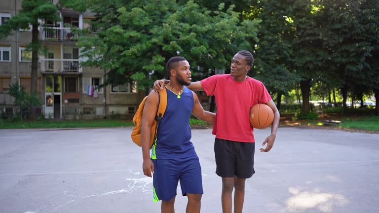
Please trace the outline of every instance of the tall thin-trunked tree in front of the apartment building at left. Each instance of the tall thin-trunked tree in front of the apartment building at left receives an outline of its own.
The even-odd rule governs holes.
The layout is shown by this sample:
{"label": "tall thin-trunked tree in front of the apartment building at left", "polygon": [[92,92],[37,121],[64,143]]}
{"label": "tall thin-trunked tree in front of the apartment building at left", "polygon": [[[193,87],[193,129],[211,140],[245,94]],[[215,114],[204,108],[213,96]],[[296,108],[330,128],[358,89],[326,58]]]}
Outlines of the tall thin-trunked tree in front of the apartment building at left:
{"label": "tall thin-trunked tree in front of the apartment building at left", "polygon": [[[38,51],[42,49],[42,44],[38,39],[38,27],[41,22],[38,20],[58,21],[58,8],[49,0],[23,0],[22,9],[18,14],[11,17],[8,22],[0,26],[0,39],[13,34],[19,29],[27,29],[32,25],[32,42],[28,48],[32,50],[32,70],[31,70],[31,94],[37,92],[37,72],[38,72]],[[36,119],[36,106],[30,105],[31,119]]]}

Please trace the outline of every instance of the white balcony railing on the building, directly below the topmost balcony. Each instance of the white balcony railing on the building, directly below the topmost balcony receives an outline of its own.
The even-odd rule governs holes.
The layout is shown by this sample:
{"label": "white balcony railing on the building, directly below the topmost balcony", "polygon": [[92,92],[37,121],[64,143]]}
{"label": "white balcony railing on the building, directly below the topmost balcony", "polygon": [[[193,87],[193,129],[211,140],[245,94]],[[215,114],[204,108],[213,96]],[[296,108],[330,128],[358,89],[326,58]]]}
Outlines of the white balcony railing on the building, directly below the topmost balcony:
{"label": "white balcony railing on the building, directly below the topmost balcony", "polygon": [[41,59],[41,71],[81,72],[78,59]]}

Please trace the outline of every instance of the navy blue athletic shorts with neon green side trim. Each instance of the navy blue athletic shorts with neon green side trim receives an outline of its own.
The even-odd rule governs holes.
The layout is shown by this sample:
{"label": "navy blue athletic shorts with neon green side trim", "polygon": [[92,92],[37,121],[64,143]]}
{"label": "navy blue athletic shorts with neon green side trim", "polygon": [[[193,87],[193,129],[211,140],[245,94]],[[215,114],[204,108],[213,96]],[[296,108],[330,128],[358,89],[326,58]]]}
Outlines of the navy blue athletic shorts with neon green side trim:
{"label": "navy blue athletic shorts with neon green side trim", "polygon": [[195,155],[182,159],[152,159],[153,174],[153,201],[169,201],[176,196],[178,181],[183,196],[189,194],[203,194],[201,167],[199,158]]}

